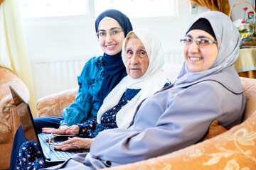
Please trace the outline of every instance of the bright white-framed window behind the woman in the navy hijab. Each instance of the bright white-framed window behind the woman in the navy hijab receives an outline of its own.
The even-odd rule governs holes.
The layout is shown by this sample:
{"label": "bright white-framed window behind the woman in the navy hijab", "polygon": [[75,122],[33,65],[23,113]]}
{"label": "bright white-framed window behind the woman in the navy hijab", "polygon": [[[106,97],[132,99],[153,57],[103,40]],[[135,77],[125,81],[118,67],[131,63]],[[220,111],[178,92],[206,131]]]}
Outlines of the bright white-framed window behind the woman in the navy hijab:
{"label": "bright white-framed window behind the woman in the navy hijab", "polygon": [[95,21],[108,8],[129,18],[175,18],[177,0],[19,0],[26,24]]}

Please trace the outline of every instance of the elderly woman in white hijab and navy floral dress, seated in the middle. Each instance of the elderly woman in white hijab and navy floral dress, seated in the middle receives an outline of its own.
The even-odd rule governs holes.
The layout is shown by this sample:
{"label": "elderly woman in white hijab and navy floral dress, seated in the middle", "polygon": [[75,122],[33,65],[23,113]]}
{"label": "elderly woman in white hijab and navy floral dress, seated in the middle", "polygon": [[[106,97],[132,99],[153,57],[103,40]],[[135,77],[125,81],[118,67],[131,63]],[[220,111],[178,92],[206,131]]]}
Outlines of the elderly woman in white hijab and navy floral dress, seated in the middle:
{"label": "elderly woman in white hijab and navy floral dress, seated in the middle", "polygon": [[[139,103],[169,85],[162,67],[164,53],[161,40],[149,30],[133,30],[124,40],[122,60],[127,69],[124,77],[103,101],[97,117],[71,126],[67,135],[80,135],[55,146],[55,149],[88,149],[102,130],[128,128]],[[63,146],[64,145],[64,146]],[[67,146],[68,145],[68,146]],[[76,147],[72,147],[72,146]]]}

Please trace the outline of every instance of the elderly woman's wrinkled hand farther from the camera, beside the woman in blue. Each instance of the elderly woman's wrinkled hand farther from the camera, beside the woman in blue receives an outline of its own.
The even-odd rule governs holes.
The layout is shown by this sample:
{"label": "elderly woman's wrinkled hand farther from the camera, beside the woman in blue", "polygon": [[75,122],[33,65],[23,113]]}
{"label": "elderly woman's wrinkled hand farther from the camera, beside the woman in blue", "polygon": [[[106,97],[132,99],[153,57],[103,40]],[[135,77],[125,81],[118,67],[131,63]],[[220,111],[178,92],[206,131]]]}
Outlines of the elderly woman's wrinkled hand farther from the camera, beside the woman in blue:
{"label": "elderly woman's wrinkled hand farther from the camera, beside the woman in blue", "polygon": [[53,134],[78,135],[79,126],[78,125],[72,125],[72,126],[63,125],[63,126],[60,126],[60,128],[58,128],[58,129],[42,128],[42,132],[53,133]]}

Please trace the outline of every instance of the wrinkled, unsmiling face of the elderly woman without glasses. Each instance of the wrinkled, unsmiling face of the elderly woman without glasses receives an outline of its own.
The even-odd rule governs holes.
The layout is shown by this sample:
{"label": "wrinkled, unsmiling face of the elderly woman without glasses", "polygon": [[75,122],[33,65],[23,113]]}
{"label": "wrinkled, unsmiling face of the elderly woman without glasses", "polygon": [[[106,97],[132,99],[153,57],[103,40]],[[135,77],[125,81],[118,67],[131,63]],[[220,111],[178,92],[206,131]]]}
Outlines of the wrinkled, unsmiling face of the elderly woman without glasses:
{"label": "wrinkled, unsmiling face of the elderly woman without glasses", "polygon": [[133,79],[142,77],[149,67],[149,57],[142,41],[139,38],[129,38],[125,52],[127,74]]}

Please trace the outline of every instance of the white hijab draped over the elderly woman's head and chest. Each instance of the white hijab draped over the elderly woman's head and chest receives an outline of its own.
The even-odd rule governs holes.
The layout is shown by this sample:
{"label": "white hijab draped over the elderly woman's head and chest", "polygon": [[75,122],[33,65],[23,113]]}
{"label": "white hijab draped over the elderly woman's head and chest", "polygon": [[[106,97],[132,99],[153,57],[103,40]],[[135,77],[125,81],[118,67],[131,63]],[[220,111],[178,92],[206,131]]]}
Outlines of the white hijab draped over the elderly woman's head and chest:
{"label": "white hijab draped over the elderly woman's head and chest", "polygon": [[[124,77],[124,79],[112,89],[97,113],[97,123],[100,123],[104,113],[119,103],[127,89],[141,89],[139,93],[117,113],[116,120],[118,128],[128,128],[139,103],[144,100],[144,98],[155,94],[156,91],[164,87],[164,84],[169,82],[162,71],[162,67],[164,66],[164,52],[159,37],[149,30],[144,29],[133,30],[131,32],[134,32],[139,40],[142,41],[149,57],[149,67],[146,73],[139,79],[133,79],[127,75],[127,77]],[[124,65],[126,65],[124,60],[126,55],[124,45],[126,41],[125,39],[122,47],[122,60]]]}

